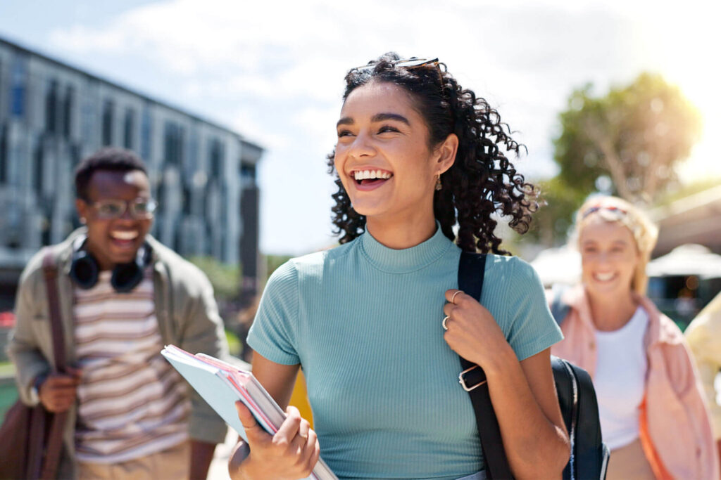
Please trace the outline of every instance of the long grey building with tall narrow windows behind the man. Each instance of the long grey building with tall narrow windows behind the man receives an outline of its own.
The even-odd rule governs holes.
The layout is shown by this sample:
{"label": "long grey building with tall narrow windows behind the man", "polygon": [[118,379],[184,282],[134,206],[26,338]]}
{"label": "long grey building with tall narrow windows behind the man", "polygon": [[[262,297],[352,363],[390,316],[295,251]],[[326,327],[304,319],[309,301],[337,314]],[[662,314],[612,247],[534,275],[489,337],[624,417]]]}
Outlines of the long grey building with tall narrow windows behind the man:
{"label": "long grey building with tall narrow windows behind the man", "polygon": [[155,237],[181,255],[242,261],[244,285],[255,286],[260,146],[0,38],[0,288],[79,225],[74,168],[105,145],[145,160],[160,205]]}

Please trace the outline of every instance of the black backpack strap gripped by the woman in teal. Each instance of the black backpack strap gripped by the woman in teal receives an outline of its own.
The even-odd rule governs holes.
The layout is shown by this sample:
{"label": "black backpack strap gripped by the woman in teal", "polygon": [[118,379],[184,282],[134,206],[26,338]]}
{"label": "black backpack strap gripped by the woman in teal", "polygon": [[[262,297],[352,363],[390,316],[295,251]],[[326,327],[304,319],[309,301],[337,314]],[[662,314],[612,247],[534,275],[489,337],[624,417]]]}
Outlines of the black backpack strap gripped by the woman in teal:
{"label": "black backpack strap gripped by the woman in teal", "polygon": [[[458,267],[458,288],[481,301],[486,255],[461,252]],[[481,438],[481,449],[485,460],[487,479],[513,479],[508,459],[503,450],[500,427],[493,410],[488,384],[483,369],[475,363],[461,359],[461,386],[468,391],[476,415],[476,425]]]}

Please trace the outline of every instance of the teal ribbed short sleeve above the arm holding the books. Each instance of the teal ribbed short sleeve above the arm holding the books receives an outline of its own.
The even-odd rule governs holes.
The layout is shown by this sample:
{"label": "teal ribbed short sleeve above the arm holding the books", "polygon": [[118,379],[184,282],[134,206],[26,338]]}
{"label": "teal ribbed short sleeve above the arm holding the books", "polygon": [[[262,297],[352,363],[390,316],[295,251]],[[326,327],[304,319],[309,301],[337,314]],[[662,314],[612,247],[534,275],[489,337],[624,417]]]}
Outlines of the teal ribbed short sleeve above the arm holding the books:
{"label": "teal ribbed short sleeve above the arm holding the books", "polygon": [[283,365],[300,363],[296,349],[298,273],[292,261],[268,279],[248,332],[248,345],[263,357]]}

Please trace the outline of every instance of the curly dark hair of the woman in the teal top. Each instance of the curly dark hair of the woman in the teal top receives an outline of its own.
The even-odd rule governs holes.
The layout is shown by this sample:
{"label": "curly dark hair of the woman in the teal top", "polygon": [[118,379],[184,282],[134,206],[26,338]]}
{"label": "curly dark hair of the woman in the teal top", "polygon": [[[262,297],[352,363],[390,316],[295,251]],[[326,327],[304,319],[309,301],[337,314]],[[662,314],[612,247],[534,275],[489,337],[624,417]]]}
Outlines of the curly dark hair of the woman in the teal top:
{"label": "curly dark hair of the woman in the teal top", "polygon": [[[386,53],[368,67],[353,68],[345,76],[343,101],[359,86],[371,81],[392,83],[409,92],[415,109],[430,132],[428,147],[434,148],[448,135],[459,138],[456,161],[441,175],[443,189],[433,197],[433,213],[443,235],[456,240],[453,227],[459,223],[456,243],[465,251],[508,254],[493,234],[493,214],[510,217],[508,225],[519,233],[528,231],[531,214],[538,209],[536,188],[516,171],[500,145],[518,157],[521,148],[510,137],[508,124],[498,112],[472,90],[463,89],[444,63],[397,66],[397,53]],[[442,79],[442,80],[441,80]],[[442,82],[442,83],[441,83]],[[366,217],[358,214],[335,171],[335,150],[328,158],[329,173],[335,173],[338,191],[332,195],[334,233],[347,243],[366,230]]]}

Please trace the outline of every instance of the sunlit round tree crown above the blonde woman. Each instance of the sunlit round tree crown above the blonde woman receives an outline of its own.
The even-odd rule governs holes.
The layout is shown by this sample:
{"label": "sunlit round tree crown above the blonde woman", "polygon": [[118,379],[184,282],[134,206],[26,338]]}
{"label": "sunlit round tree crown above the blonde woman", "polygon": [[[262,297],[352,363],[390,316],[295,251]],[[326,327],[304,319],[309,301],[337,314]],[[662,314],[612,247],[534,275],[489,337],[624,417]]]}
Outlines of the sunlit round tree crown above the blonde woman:
{"label": "sunlit round tree crown above the blonde woman", "polygon": [[562,186],[585,196],[608,176],[614,194],[645,203],[665,193],[702,124],[681,91],[651,73],[601,97],[588,84],[571,94],[559,119],[554,160]]}

